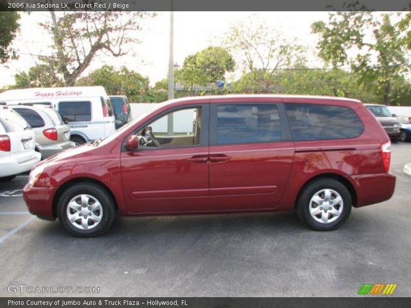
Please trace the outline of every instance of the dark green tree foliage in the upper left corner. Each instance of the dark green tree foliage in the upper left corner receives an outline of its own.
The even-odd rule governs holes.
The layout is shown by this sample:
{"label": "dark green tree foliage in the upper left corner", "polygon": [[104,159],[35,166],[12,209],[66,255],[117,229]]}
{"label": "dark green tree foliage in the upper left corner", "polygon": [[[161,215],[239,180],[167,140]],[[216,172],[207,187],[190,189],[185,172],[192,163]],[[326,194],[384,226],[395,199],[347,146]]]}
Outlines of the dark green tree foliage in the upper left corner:
{"label": "dark green tree foliage in the upper left corner", "polygon": [[15,50],[10,47],[17,31],[20,29],[17,12],[0,11],[0,62],[6,63],[10,58],[15,59]]}

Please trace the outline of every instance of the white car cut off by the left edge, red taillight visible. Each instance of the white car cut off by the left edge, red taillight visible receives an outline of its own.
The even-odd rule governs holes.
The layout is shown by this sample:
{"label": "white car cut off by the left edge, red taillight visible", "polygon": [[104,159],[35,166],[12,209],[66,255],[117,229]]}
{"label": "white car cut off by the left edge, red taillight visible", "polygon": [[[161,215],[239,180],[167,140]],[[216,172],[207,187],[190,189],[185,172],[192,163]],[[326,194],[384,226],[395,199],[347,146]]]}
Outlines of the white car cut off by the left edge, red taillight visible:
{"label": "white car cut off by the left edge, red taillight visible", "polygon": [[0,107],[0,181],[11,181],[40,161],[34,131],[14,110]]}

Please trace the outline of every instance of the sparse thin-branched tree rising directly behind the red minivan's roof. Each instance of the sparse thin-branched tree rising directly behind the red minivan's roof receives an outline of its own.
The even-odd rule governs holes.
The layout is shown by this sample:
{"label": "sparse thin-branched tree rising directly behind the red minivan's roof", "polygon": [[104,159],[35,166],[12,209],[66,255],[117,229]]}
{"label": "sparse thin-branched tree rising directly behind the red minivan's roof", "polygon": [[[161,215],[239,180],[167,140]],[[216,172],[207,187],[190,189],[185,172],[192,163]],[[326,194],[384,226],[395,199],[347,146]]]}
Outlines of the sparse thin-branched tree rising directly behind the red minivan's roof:
{"label": "sparse thin-branched tree rising directly behind the red minivan's roof", "polygon": [[296,38],[268,27],[239,22],[226,33],[225,46],[237,59],[242,77],[234,91],[268,93],[277,89],[277,74],[305,64],[305,48]]}

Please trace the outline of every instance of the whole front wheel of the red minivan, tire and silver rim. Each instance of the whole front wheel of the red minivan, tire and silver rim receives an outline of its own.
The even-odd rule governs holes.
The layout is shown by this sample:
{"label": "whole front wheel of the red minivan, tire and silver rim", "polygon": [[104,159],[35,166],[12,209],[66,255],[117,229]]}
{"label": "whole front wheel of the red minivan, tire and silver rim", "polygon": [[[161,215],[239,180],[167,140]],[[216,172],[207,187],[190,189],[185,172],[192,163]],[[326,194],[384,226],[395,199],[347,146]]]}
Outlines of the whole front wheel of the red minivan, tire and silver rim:
{"label": "whole front wheel of the red minivan, tire and silver rim", "polygon": [[105,233],[115,215],[113,198],[103,187],[93,183],[70,186],[58,202],[61,224],[77,237],[93,237]]}

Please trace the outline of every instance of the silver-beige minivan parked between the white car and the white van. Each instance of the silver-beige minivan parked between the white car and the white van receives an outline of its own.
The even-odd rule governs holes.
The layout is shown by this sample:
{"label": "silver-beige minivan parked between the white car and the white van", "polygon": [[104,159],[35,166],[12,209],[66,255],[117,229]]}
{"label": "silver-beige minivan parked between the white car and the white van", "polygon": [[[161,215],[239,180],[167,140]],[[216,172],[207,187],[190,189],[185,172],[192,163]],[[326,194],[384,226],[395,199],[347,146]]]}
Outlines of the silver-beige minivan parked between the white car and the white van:
{"label": "silver-beige minivan parked between the white car and the white van", "polygon": [[63,122],[60,113],[51,106],[45,105],[10,105],[17,111],[35,133],[35,148],[42,159],[73,147],[70,141],[70,126]]}

